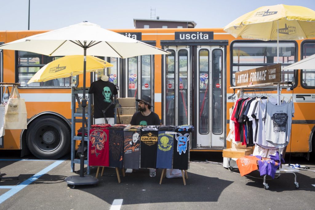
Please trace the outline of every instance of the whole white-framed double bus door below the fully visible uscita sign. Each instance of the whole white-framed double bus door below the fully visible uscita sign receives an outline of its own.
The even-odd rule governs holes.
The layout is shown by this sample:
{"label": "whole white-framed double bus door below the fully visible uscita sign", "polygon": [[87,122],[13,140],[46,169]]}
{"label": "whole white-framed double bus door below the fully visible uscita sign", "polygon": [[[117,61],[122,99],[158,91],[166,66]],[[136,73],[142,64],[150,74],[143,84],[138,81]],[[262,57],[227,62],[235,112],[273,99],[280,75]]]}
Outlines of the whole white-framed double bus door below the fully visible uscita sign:
{"label": "whole white-framed double bus door below the fully visible uscita sign", "polygon": [[193,125],[192,149],[225,148],[225,47],[164,49],[163,124]]}

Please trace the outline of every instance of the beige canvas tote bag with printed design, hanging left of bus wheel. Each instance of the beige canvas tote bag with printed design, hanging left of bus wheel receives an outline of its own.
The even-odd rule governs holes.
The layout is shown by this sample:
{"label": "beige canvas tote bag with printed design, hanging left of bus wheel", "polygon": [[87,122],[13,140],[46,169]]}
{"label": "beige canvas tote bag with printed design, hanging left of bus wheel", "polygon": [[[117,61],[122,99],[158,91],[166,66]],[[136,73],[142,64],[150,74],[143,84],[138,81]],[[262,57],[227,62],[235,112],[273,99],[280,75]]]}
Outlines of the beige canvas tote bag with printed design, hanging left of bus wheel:
{"label": "beige canvas tote bag with printed design, hanging left of bus wheel", "polygon": [[18,88],[13,85],[8,104],[5,106],[4,128],[26,129],[27,113],[25,100],[20,98]]}

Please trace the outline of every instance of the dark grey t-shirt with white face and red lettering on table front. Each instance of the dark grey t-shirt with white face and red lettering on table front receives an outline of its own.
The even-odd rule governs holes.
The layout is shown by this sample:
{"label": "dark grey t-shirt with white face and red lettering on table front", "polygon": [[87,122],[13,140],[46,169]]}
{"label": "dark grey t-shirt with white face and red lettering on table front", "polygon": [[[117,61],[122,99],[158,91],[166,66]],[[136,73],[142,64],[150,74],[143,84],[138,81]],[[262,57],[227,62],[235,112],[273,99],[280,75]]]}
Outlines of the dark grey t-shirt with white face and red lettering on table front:
{"label": "dark grey t-shirt with white face and red lettering on table front", "polygon": [[140,131],[124,131],[124,168],[139,169]]}

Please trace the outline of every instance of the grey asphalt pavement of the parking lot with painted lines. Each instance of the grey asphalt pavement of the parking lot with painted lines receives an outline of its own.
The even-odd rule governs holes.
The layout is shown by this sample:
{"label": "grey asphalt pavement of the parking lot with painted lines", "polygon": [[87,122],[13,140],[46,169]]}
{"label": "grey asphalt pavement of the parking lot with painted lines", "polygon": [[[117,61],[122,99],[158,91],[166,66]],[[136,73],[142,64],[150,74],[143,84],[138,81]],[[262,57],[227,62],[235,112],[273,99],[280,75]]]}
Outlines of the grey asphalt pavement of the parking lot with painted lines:
{"label": "grey asphalt pavement of the parking lot with painted lines", "polygon": [[[222,153],[191,153],[186,186],[182,178],[164,178],[162,170],[149,177],[148,169],[126,173],[118,183],[114,168],[106,167],[97,185],[69,187],[64,179],[79,174],[70,172],[69,157],[60,160],[20,158],[16,152],[0,153],[2,177],[18,176],[18,180],[1,180],[0,209],[314,209],[315,172],[282,174],[268,177],[265,190],[258,171],[241,177],[221,164]],[[197,161],[197,162],[194,162]],[[286,155],[286,163],[299,163],[315,170],[314,162],[304,157]],[[79,165],[76,165],[79,169]],[[97,167],[91,167],[95,176]]]}

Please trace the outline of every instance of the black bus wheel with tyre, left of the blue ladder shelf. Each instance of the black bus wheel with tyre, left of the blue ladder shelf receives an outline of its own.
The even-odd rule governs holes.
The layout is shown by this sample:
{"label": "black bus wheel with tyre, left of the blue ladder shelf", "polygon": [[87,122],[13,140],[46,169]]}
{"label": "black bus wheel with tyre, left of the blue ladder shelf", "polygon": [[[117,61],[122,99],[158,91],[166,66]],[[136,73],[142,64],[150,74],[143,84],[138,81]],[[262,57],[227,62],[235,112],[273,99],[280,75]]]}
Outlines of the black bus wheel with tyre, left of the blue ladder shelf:
{"label": "black bus wheel with tyre, left of the blue ladder shelf", "polygon": [[28,125],[26,143],[34,156],[40,159],[58,159],[70,150],[70,129],[57,116],[39,116]]}

